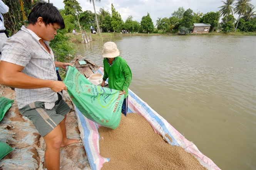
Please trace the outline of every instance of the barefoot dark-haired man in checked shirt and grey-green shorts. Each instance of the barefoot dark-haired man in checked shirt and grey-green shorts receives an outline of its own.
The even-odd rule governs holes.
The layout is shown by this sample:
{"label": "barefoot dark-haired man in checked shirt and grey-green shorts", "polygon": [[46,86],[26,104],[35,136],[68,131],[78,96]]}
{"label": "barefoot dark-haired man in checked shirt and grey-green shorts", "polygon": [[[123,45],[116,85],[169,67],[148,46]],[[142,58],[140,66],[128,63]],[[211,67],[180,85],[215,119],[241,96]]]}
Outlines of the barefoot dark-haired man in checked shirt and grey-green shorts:
{"label": "barefoot dark-haired man in checked shirt and grey-green shorts", "polygon": [[72,64],[54,61],[49,46],[57,29],[64,28],[60,11],[52,3],[39,1],[28,15],[28,26],[5,41],[0,62],[0,84],[15,88],[18,111],[44,138],[48,170],[60,169],[60,147],[78,143],[66,135],[70,108],[60,91],[67,87],[57,80],[55,70]]}

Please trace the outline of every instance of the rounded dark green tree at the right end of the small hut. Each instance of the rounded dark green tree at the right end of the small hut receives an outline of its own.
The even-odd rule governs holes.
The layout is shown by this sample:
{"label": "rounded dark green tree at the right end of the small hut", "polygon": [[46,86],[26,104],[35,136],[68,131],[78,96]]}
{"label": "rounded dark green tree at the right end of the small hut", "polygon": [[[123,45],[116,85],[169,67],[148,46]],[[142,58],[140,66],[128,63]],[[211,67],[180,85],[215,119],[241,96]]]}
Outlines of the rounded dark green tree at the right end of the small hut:
{"label": "rounded dark green tree at the right end of the small hut", "polygon": [[211,24],[210,31],[214,31],[214,28],[218,26],[219,17],[219,12],[208,12],[202,16],[200,22],[205,24]]}

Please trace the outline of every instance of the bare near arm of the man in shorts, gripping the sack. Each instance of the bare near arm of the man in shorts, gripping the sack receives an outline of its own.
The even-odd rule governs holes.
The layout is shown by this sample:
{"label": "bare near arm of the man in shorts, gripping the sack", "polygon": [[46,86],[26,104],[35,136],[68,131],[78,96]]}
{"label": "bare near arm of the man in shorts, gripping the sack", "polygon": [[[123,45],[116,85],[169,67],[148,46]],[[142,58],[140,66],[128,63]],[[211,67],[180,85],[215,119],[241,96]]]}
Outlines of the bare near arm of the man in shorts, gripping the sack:
{"label": "bare near arm of the man in shorts, gripping the sack", "polygon": [[[61,67],[61,66],[60,66]],[[67,90],[65,83],[54,80],[43,80],[22,73],[24,67],[10,62],[0,62],[0,84],[14,88],[51,88],[54,92]]]}

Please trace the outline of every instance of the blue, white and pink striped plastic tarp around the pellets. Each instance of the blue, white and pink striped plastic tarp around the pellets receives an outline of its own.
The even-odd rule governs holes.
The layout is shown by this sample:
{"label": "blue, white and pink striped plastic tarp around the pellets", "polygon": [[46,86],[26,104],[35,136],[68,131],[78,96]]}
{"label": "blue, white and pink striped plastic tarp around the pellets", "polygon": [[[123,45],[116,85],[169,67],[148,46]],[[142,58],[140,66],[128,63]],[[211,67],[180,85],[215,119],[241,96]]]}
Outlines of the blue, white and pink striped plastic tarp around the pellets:
{"label": "blue, white and pink striped plastic tarp around the pellets", "polygon": [[[97,71],[100,74],[104,74],[103,68]],[[85,151],[92,170],[100,170],[104,162],[108,162],[109,159],[100,156],[99,154],[99,132],[100,125],[90,121],[83,116],[80,111],[74,107],[77,115],[77,122],[80,131],[80,137],[83,141]],[[128,99],[128,113],[137,113],[143,116],[152,126],[154,131],[161,135],[163,139],[171,145],[178,145],[184,148],[187,152],[192,154],[202,166],[208,170],[220,170],[220,168],[208,157],[203,155],[192,142],[188,141],[181,133],[179,133],[174,127],[171,126],[162,116],[154,111],[147,103],[139,98],[135,93],[129,89]],[[166,134],[172,138],[172,142],[166,137]]]}

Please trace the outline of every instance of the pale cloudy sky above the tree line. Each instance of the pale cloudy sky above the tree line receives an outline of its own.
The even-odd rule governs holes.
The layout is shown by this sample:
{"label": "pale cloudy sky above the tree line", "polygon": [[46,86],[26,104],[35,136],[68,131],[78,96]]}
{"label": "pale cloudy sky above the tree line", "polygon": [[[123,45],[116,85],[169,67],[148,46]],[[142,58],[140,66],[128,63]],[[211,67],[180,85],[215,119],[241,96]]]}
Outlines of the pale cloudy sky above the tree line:
{"label": "pale cloudy sky above the tree line", "polygon": [[[226,0],[223,1],[226,2]],[[77,2],[80,3],[82,11],[90,10],[94,13],[93,4],[90,3],[90,0],[77,0]],[[53,3],[59,9],[64,9],[63,0],[50,0],[50,3]],[[200,11],[205,14],[211,11],[219,11],[220,8],[218,7],[224,5],[221,0],[101,0],[100,2],[94,0],[94,3],[96,12],[100,8],[104,8],[110,14],[111,3],[113,3],[115,10],[119,12],[124,22],[129,15],[133,17],[133,21],[141,22],[142,16],[149,13],[154,25],[156,25],[158,18],[169,18],[179,7],[183,7],[185,10],[190,8],[196,13]],[[256,0],[251,0],[250,3],[255,6]],[[238,15],[234,14],[234,17],[238,18]]]}

